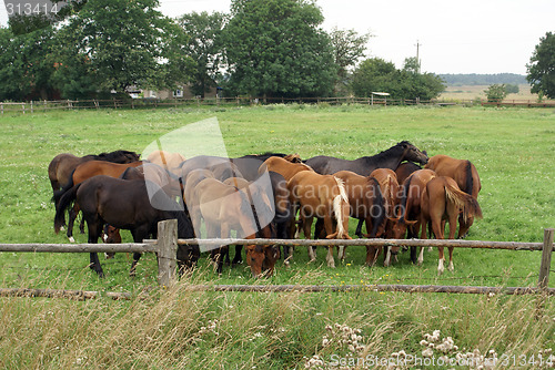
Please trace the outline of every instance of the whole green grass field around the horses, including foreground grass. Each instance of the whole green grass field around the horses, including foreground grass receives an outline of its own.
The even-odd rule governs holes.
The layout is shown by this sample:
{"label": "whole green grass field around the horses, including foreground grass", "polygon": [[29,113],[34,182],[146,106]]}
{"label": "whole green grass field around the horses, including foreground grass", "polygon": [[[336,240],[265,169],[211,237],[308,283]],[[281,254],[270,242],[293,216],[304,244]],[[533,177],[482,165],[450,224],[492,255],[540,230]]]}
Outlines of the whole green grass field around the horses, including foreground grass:
{"label": "whole green grass field around the horses, including foreground grass", "polygon": [[[542,241],[543,229],[555,226],[552,110],[271,105],[2,116],[0,240],[65,243],[52,228],[47,167],[54,155],[117,148],[142,152],[161,135],[212,116],[220,122],[230,156],[275,151],[355,158],[408,140],[430,155],[468,158],[481,175],[478,201],[484,213],[484,219],[471,228],[470,239]],[[127,232],[122,234],[130,240]],[[78,241],[85,239],[78,235]],[[134,279],[128,276],[129,256],[103,261],[107,278],[100,280],[87,267],[84,255],[2,253],[1,287],[150,294],[130,302],[2,298],[0,366],[302,368],[313,354],[327,364],[334,354],[387,357],[404,350],[422,356],[418,342],[436,329],[442,339],[450,336],[458,346],[447,351],[448,357],[495,349],[500,357],[523,354],[528,360],[534,354],[537,359],[545,353],[539,350],[555,346],[553,300],[547,300],[545,315],[536,320],[536,301],[527,297],[202,294],[185,288],[196,281],[535,286],[539,257],[528,251],[456,249],[455,271],[437,277],[435,250],[425,253],[422,267],[412,266],[403,254],[391,268],[369,269],[363,266],[362,248],[352,247],[345,261],[331,269],[325,267],[323,249],[315,264],[307,264],[305,250],[297,249],[291,268],[279,263],[276,275],[262,281],[254,281],[245,267],[224,268],[218,277],[203,258],[192,276],[169,291],[158,291],[152,290],[157,285],[152,255],[143,256]],[[555,279],[549,286],[555,287]],[[341,342],[343,329],[334,329],[335,323],[361,329],[361,348],[351,343],[353,351]],[[434,358],[440,356],[434,350]]]}

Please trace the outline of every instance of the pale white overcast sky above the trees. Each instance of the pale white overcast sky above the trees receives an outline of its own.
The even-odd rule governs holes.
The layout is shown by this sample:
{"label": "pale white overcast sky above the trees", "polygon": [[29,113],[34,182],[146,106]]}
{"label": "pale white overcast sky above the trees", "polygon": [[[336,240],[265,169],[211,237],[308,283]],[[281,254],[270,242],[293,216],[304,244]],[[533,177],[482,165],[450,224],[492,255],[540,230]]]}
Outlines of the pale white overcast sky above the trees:
{"label": "pale white overcast sky above the trees", "polygon": [[[228,12],[231,0],[160,0],[170,17]],[[547,31],[555,32],[555,0],[317,0],[331,30],[370,32],[369,56],[403,66],[420,47],[422,70],[433,73],[518,73]],[[6,8],[0,21],[6,24]]]}

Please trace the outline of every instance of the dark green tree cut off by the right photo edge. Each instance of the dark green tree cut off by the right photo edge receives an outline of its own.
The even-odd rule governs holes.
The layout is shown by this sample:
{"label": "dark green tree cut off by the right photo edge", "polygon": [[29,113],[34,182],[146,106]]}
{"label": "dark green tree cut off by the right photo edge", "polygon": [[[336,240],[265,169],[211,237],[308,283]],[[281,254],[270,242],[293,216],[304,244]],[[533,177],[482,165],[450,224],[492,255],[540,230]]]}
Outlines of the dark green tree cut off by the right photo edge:
{"label": "dark green tree cut off by the right photo edge", "polygon": [[547,32],[539,39],[529,63],[526,80],[533,93],[555,99],[555,34]]}

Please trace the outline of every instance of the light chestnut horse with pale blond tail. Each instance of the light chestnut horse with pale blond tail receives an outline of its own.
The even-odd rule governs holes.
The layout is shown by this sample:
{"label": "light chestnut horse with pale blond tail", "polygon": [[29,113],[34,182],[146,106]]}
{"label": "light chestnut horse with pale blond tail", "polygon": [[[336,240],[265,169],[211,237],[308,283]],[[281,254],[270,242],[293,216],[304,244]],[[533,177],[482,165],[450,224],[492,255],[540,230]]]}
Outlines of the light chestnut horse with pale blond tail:
{"label": "light chestnut horse with pale blond tail", "polygon": [[[301,171],[287,182],[287,188],[294,209],[300,208],[299,217],[306,239],[311,238],[314,217],[323,219],[327,239],[351,239],[349,236],[349,198],[340,178],[320,175],[312,171]],[[311,247],[309,247],[309,256],[311,261],[315,260]],[[327,248],[326,261],[329,267],[335,267],[333,247]]]}

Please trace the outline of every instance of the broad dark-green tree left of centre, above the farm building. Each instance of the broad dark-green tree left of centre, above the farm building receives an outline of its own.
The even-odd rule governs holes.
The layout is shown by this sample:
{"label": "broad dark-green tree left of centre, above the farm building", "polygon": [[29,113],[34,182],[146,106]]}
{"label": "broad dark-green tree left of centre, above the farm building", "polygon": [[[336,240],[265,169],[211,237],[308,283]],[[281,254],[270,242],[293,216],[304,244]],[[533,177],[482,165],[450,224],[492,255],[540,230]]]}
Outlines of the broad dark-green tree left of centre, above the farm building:
{"label": "broad dark-green tree left of centre, above the farm building", "polygon": [[83,80],[95,90],[119,93],[131,85],[170,88],[186,80],[186,72],[179,71],[186,58],[176,52],[183,31],[158,6],[158,0],[87,2],[61,30],[60,63],[79,73],[77,84],[62,79],[62,90],[84,88]]}

